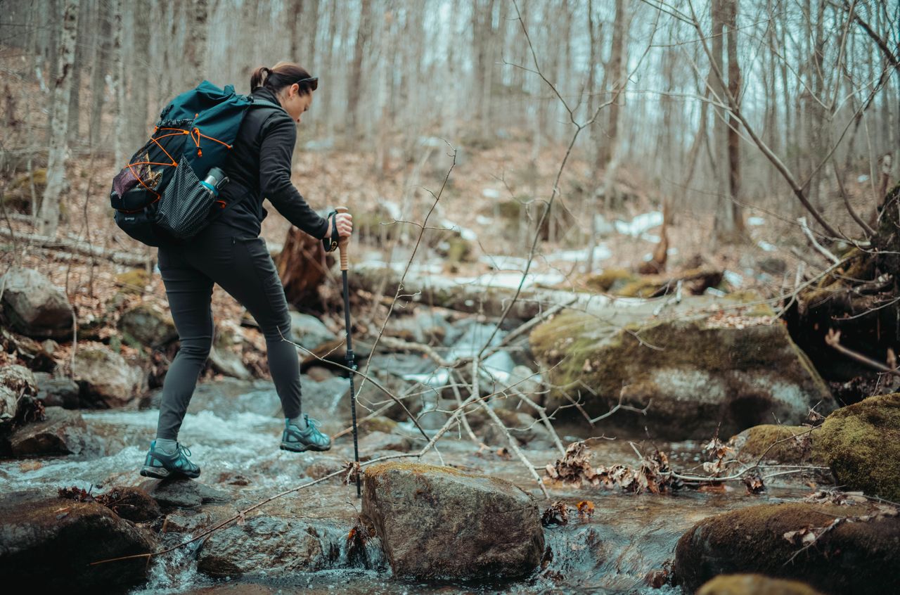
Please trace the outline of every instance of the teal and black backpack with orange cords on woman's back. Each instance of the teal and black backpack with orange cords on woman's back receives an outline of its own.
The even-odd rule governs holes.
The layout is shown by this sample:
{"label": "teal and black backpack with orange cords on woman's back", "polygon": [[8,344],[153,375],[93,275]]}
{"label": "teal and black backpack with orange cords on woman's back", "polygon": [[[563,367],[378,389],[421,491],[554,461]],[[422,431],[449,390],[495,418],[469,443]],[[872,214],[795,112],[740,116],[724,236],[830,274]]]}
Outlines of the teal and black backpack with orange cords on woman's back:
{"label": "teal and black backpack with orange cords on woman's back", "polygon": [[281,109],[205,80],[167,104],[150,139],[112,180],[110,204],[121,230],[159,246],[193,238],[229,206],[217,200],[228,183],[221,167],[255,106]]}

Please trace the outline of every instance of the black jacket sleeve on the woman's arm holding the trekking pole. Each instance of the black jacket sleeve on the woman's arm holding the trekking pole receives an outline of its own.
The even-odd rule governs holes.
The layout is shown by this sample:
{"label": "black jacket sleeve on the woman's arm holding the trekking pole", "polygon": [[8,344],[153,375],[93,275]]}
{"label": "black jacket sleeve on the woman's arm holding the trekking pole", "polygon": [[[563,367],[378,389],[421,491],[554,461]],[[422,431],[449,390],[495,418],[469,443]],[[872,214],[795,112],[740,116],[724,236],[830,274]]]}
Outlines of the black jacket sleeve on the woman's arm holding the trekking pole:
{"label": "black jacket sleeve on the woman's arm holding the trekking pole", "polygon": [[259,150],[259,191],[291,224],[322,239],[329,222],[306,203],[291,182],[291,158],[297,126],[286,113],[273,113],[263,124]]}

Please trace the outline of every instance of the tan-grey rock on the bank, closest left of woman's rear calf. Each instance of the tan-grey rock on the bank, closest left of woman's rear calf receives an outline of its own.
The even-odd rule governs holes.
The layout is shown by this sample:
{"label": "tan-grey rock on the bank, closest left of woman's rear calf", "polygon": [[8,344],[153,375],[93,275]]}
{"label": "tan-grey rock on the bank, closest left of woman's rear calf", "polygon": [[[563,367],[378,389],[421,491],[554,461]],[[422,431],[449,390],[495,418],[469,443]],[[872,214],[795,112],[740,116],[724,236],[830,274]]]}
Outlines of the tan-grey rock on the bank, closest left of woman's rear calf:
{"label": "tan-grey rock on the bank, closest left of woman's rear calf", "polygon": [[138,367],[103,347],[80,347],[75,354],[72,376],[87,401],[106,407],[127,405],[145,388],[145,374]]}

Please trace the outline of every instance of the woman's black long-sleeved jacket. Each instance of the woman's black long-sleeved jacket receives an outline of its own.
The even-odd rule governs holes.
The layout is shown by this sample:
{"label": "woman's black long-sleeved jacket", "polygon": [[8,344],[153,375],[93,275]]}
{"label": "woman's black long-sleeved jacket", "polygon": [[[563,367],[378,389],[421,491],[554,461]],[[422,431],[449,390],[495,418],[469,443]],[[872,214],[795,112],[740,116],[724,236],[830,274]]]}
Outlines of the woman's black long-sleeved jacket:
{"label": "woman's black long-sleeved jacket", "polygon": [[[252,95],[278,104],[275,94],[266,88],[259,87]],[[296,227],[313,238],[325,236],[328,221],[311,209],[291,182],[296,140],[297,123],[283,108],[253,107],[247,111],[223,167],[230,183],[222,188],[220,200],[229,206],[219,221],[256,238],[266,219],[263,200],[267,198]]]}

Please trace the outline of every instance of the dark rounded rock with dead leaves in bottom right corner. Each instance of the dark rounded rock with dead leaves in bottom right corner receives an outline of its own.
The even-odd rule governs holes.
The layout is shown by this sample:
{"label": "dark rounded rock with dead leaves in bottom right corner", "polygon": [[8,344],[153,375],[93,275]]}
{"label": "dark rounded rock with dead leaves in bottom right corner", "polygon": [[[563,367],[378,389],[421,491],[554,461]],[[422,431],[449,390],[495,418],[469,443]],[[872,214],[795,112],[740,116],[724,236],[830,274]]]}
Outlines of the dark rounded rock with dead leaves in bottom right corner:
{"label": "dark rounded rock with dead leaves in bottom right corner", "polygon": [[[833,526],[843,518],[853,521]],[[805,547],[810,532],[821,535]],[[675,572],[689,591],[718,574],[758,572],[824,593],[875,595],[895,588],[898,543],[900,517],[872,505],[765,504],[701,520],[681,536]]]}

